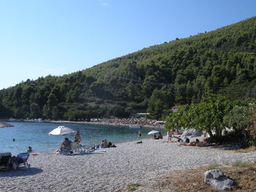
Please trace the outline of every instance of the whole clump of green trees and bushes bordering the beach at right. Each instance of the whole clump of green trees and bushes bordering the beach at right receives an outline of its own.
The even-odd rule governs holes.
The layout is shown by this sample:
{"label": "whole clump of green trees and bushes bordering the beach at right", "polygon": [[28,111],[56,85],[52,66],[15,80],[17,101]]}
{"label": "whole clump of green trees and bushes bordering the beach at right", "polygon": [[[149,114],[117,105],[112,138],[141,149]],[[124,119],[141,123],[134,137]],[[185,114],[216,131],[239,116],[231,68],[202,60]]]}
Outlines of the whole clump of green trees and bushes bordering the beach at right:
{"label": "whole clump of green trees and bushes bordering the beach at right", "polygon": [[[165,128],[195,128],[208,132],[214,142],[231,140],[244,147],[256,146],[255,112],[255,101],[201,101],[167,115]],[[231,130],[228,134],[227,129]]]}

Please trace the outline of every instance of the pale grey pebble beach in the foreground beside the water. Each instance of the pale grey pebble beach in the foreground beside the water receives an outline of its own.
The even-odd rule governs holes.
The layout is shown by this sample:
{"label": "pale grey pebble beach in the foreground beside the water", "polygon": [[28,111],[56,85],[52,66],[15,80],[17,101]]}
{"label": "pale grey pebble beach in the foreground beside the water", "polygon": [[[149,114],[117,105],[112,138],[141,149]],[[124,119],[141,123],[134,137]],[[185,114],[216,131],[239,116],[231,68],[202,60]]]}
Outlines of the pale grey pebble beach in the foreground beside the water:
{"label": "pale grey pebble beach in the foreground beside the water", "polygon": [[0,172],[0,191],[125,191],[135,183],[155,191],[151,187],[170,172],[256,160],[256,152],[178,146],[165,140],[119,143],[106,152],[85,155],[31,155],[30,169]]}

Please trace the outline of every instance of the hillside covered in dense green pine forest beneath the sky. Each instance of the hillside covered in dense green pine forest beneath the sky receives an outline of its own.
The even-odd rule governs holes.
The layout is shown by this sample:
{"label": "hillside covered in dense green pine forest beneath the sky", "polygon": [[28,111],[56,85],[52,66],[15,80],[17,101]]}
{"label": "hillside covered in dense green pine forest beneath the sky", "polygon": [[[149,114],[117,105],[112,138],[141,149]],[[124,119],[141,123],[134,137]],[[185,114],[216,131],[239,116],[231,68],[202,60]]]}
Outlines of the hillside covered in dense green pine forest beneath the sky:
{"label": "hillside covered in dense green pine forest beneath the sky", "polygon": [[174,104],[253,99],[256,17],[115,58],[82,72],[0,91],[0,118],[89,119],[133,112],[160,118]]}

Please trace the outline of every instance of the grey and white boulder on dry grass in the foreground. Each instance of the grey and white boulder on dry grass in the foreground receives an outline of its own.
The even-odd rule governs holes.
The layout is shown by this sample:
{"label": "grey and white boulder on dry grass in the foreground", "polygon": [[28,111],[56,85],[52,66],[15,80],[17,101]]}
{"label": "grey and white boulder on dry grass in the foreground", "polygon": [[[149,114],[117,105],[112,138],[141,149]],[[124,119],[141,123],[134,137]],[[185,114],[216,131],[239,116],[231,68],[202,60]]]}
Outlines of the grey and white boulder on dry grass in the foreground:
{"label": "grey and white boulder on dry grass in the foreground", "polygon": [[219,169],[212,169],[205,172],[204,182],[218,191],[230,190],[233,185],[233,180],[227,177],[226,174],[219,171]]}

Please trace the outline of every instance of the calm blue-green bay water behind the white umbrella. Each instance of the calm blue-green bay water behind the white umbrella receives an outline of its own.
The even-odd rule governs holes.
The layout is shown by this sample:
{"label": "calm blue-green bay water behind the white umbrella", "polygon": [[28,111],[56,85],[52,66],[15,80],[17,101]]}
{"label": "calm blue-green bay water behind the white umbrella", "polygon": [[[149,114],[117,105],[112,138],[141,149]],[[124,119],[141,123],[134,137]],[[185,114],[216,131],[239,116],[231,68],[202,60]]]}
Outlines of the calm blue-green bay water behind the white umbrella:
{"label": "calm blue-green bay water behind the white umbrella", "polygon": [[[9,122],[10,123],[10,122]],[[11,122],[14,127],[0,128],[0,152],[11,152],[12,155],[26,152],[29,146],[33,153],[52,152],[59,148],[61,141],[68,137],[71,141],[74,134],[49,136],[48,133],[58,126],[67,126],[80,131],[83,145],[99,145],[102,139],[117,144],[118,142],[138,141],[138,130],[129,126],[110,126],[84,123],[25,123]],[[140,129],[141,139],[151,138],[147,133],[151,128]],[[12,141],[15,139],[15,142]],[[117,144],[118,146],[118,144]]]}

